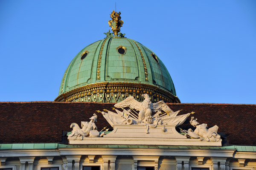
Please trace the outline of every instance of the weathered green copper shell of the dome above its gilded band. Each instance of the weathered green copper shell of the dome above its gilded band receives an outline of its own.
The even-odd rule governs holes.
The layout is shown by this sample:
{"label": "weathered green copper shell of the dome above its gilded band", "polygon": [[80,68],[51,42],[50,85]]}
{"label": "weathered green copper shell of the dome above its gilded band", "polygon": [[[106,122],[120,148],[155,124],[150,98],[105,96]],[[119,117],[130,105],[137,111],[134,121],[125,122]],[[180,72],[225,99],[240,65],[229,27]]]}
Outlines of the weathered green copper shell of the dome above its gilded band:
{"label": "weathered green copper shell of the dome above its gilded band", "polygon": [[[126,48],[125,54],[118,53],[119,46]],[[86,51],[87,56],[81,59]],[[70,62],[58,95],[98,82],[132,82],[154,85],[176,96],[169,72],[152,54],[153,51],[128,38],[110,37],[94,42]]]}

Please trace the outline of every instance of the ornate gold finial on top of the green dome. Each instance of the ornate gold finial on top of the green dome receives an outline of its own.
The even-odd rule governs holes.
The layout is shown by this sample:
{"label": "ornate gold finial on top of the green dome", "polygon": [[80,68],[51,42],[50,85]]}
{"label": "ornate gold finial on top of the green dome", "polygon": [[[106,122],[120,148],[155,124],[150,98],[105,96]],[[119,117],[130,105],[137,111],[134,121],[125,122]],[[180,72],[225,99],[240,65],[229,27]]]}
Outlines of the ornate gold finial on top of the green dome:
{"label": "ornate gold finial on top of the green dome", "polygon": [[118,36],[118,32],[120,32],[120,27],[124,23],[121,20],[120,14],[121,14],[121,12],[117,13],[113,10],[113,12],[110,14],[110,17],[112,20],[108,21],[108,24],[111,27],[111,30],[114,32],[114,37]]}

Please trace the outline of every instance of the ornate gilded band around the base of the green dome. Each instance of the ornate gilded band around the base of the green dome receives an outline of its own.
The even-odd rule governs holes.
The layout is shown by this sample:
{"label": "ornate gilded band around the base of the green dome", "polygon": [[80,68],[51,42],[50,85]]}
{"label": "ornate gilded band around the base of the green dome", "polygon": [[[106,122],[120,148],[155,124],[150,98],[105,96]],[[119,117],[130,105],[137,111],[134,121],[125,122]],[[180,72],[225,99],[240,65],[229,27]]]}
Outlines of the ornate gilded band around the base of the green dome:
{"label": "ornate gilded band around the base of the green dome", "polygon": [[177,96],[155,85],[131,82],[99,82],[76,88],[61,94],[56,102],[120,102],[128,96],[143,101],[142,94],[148,94],[151,102],[163,100],[168,103],[180,103]]}

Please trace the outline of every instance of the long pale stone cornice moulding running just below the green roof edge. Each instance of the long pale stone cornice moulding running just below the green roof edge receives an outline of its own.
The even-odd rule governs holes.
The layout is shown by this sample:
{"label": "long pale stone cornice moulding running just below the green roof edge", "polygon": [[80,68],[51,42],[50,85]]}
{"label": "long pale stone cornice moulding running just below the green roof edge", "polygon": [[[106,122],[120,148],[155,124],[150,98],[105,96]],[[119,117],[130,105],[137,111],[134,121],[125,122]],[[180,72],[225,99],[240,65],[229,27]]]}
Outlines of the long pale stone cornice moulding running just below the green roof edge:
{"label": "long pale stone cornice moulding running just below the green roof edge", "polygon": [[195,156],[256,159],[256,152],[236,152],[219,149],[160,149],[160,148],[58,148],[54,150],[0,150],[0,157],[61,156],[61,155],[137,155],[137,156]]}

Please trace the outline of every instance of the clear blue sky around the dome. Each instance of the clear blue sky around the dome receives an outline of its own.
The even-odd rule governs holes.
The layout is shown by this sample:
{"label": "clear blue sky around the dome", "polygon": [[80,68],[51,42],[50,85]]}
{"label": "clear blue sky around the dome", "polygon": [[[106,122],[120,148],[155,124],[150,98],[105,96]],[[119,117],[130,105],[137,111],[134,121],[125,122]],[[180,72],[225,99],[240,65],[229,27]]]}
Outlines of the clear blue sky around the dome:
{"label": "clear blue sky around the dome", "polygon": [[255,0],[0,0],[0,101],[53,101],[115,2],[121,32],[160,57],[181,102],[256,104]]}

